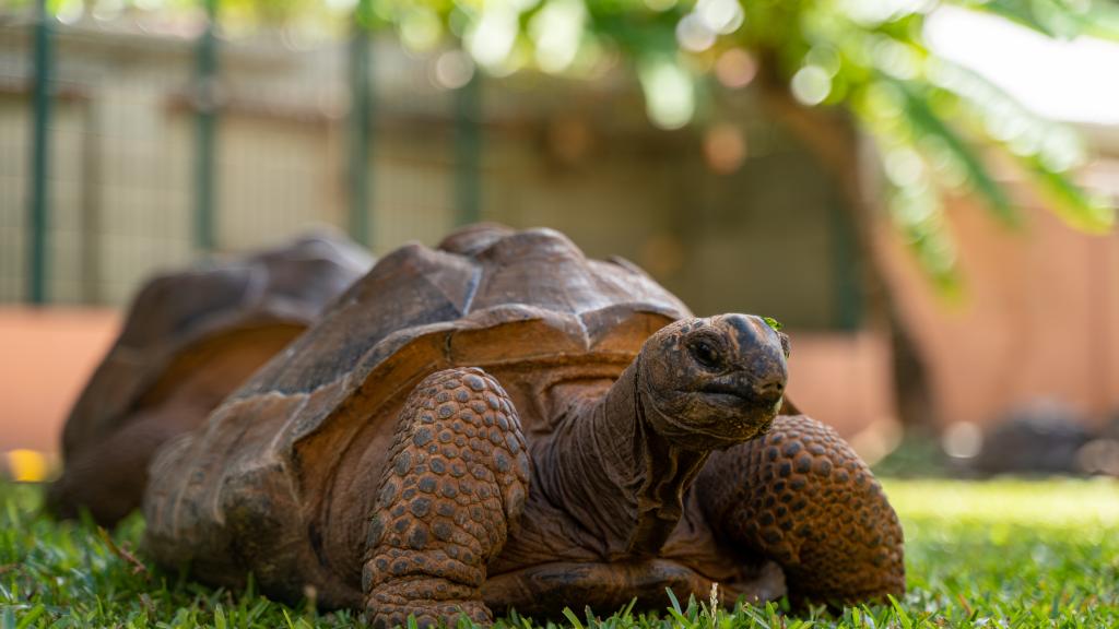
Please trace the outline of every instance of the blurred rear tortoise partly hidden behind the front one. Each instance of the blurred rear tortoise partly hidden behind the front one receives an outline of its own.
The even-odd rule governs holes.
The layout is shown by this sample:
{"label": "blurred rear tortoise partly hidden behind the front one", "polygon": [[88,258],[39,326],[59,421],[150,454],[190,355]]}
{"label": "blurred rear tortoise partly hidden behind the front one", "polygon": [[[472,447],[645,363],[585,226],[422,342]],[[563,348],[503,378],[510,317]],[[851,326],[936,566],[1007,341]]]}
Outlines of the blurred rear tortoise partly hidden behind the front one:
{"label": "blurred rear tortoise partly hidden behind the front one", "polygon": [[156,450],[200,424],[372,264],[322,235],[148,281],[66,421],[47,508],[74,517],[85,507],[106,526],[138,508]]}

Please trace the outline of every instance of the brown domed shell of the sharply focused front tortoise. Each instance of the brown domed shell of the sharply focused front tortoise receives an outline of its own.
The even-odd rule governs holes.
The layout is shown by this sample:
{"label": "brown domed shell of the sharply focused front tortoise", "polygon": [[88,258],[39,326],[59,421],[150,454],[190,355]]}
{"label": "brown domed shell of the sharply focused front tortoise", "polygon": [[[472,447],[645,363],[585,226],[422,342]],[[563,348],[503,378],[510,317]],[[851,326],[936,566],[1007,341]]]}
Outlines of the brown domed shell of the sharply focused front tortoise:
{"label": "brown domed shell of the sharply focused front tortoise", "polygon": [[[252,565],[260,583],[288,580],[276,593],[298,598],[303,583],[318,583],[320,602],[356,604],[360,575],[331,566],[355,564],[364,550],[369,479],[379,478],[420,381],[454,366],[486,369],[532,439],[551,429],[544,406],[557,383],[609,386],[646,338],[688,316],[633,264],[589,260],[552,229],[485,225],[436,250],[405,245],[205,426],[163,449],[145,498],[150,546],[173,565],[186,557],[166,548],[214,545],[191,552],[196,572]],[[198,557],[229,563],[201,566]]]}

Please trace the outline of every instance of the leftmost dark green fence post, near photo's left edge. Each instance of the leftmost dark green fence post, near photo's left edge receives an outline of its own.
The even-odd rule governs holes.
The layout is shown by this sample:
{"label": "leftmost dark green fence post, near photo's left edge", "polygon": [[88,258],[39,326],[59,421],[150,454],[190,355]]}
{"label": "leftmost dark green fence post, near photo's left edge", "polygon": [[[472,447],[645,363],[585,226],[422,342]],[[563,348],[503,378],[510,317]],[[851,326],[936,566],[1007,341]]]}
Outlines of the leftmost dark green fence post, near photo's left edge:
{"label": "leftmost dark green fence post, near photo's left edge", "polygon": [[28,299],[43,304],[47,294],[47,226],[50,223],[50,199],[47,178],[50,173],[50,74],[51,25],[47,1],[38,0],[35,9],[35,93],[31,100],[31,195],[28,203]]}

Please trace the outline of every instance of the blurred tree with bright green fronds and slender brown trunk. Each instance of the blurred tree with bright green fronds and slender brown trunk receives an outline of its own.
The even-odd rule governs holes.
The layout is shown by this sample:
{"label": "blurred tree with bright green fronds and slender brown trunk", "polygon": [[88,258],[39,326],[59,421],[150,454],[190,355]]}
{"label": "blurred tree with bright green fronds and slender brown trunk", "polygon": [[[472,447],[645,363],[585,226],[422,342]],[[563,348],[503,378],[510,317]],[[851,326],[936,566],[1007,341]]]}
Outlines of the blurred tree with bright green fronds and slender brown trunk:
{"label": "blurred tree with bright green fronds and slender brown trunk", "polygon": [[[1113,226],[1108,201],[1072,180],[1084,160],[1074,133],[930,50],[924,22],[941,4],[935,0],[373,1],[406,45],[429,48],[450,35],[496,74],[524,66],[593,74],[620,56],[637,73],[650,120],[662,128],[715,120],[713,91],[752,84],[847,200],[866,261],[867,325],[890,332],[908,424],[928,425],[932,404],[920,353],[876,266],[872,229],[883,208],[949,298],[961,288],[942,199],[971,191],[1000,223],[1023,220],[988,167],[995,160],[1016,163],[1045,206],[1073,227]],[[1119,9],[1107,0],[955,3],[1052,37],[1119,38]],[[874,140],[883,190],[867,189],[858,130]]]}

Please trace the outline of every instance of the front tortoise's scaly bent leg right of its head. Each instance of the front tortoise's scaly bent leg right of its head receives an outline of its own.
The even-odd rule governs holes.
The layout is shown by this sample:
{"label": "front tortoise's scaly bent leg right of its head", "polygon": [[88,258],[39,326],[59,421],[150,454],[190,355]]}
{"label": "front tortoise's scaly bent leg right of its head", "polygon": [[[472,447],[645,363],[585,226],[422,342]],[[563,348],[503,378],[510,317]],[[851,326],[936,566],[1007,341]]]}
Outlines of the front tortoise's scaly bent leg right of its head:
{"label": "front tortoise's scaly bent leg right of its head", "polygon": [[696,480],[722,539],[781,565],[791,598],[861,602],[905,590],[902,528],[866,463],[830,428],[778,416]]}

